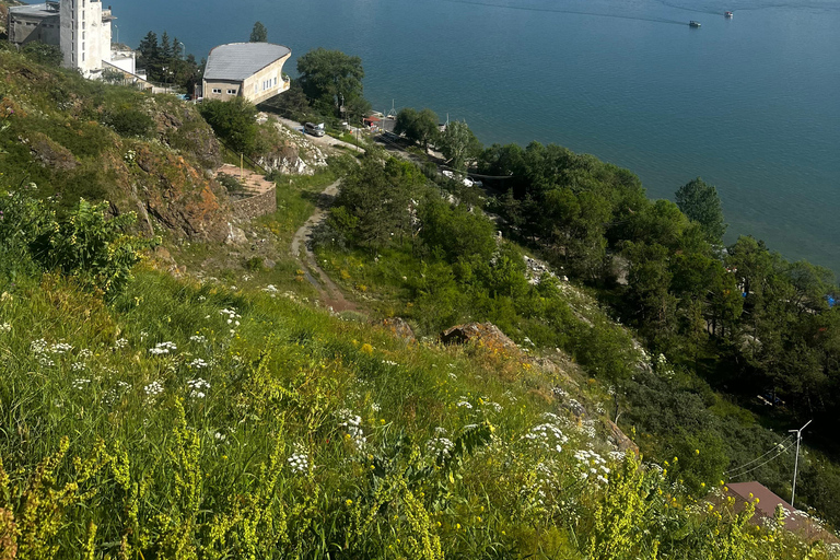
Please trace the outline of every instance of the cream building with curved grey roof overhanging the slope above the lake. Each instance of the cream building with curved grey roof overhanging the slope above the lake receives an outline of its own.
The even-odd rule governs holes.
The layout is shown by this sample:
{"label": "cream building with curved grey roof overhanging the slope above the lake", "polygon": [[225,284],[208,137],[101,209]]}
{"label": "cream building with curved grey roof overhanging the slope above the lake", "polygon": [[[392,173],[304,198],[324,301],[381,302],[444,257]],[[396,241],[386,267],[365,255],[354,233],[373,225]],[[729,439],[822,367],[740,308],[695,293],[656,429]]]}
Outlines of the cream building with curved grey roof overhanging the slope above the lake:
{"label": "cream building with curved grey roof overhanging the slope above the lake", "polygon": [[257,104],[289,89],[283,63],[292,56],[289,47],[272,43],[229,43],[207,57],[202,80],[206,100],[244,97]]}

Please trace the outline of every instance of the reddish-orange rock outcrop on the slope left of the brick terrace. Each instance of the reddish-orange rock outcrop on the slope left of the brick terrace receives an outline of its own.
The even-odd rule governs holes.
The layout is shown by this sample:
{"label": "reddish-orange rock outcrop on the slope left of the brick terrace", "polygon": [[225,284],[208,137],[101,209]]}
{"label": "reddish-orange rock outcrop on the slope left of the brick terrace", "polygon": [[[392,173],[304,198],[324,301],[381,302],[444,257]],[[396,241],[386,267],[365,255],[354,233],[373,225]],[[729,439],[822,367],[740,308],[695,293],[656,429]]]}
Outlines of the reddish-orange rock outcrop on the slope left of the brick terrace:
{"label": "reddish-orange rock outcrop on the slope left of the brick terrace", "polygon": [[152,153],[145,147],[138,150],[135,161],[145,174],[141,198],[149,214],[176,235],[201,241],[226,238],[231,209],[213,179],[182,156]]}

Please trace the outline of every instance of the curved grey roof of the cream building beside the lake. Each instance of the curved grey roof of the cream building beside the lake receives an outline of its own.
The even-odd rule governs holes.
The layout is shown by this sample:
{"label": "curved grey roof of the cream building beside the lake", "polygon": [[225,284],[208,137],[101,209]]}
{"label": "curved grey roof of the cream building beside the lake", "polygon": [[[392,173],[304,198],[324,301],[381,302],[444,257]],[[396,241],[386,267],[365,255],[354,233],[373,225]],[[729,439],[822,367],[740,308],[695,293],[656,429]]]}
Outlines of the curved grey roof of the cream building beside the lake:
{"label": "curved grey roof of the cream building beside the lake", "polygon": [[291,49],[273,43],[229,43],[210,51],[205,80],[242,82],[268,65],[291,55]]}

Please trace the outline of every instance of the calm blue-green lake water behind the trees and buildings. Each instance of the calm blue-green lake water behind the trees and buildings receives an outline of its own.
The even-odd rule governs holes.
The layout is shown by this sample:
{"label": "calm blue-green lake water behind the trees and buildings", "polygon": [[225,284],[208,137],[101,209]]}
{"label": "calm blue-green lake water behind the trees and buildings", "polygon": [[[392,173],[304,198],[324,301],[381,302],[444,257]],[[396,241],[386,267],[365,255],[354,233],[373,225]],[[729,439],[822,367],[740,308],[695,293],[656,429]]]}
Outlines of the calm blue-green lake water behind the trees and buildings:
{"label": "calm blue-green lake water behind the trees and buildings", "polygon": [[292,75],[319,46],[362,57],[378,110],[393,100],[465,119],[487,144],[593,153],[654,198],[702,176],[727,241],[751,234],[840,271],[838,0],[108,3],[131,46],[165,30],[200,59],[259,20],[292,49]]}

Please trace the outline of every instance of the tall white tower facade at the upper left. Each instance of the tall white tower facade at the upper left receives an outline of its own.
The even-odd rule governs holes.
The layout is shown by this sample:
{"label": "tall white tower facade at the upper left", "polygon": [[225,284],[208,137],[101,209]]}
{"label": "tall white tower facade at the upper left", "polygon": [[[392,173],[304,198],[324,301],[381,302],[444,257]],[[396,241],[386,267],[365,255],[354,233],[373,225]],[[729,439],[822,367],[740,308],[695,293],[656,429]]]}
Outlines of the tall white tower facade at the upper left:
{"label": "tall white tower facade at the upper left", "polygon": [[61,0],[61,52],[65,67],[88,78],[102,72],[110,60],[110,10],[98,0]]}

